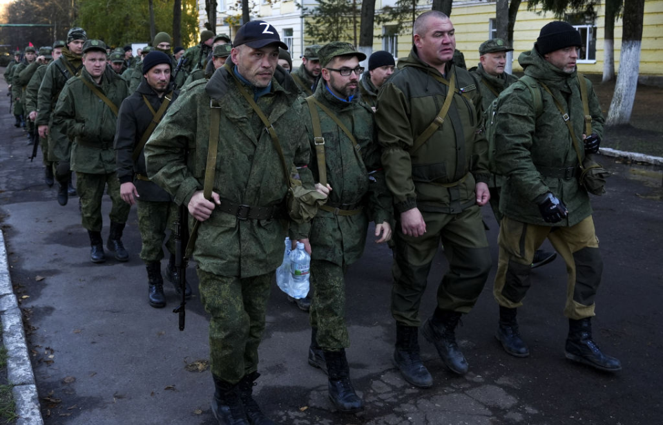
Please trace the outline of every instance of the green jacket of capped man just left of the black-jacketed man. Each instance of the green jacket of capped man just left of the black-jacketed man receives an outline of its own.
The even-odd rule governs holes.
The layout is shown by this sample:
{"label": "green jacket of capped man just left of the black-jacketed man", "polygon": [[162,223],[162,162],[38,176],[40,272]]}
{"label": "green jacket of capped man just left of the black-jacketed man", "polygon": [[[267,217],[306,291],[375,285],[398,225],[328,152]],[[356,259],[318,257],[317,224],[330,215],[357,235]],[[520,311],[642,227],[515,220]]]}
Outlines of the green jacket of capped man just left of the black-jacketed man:
{"label": "green jacket of capped man just left of the black-jacketed man", "polygon": [[[124,79],[108,68],[102,75],[101,84],[94,82],[85,69],[80,77],[69,79],[53,112],[53,127],[68,138],[54,139],[53,153],[59,161],[70,160],[72,171],[114,173],[113,139],[117,116],[81,79],[94,84],[117,108],[128,96]],[[73,140],[71,146],[69,140]]]}

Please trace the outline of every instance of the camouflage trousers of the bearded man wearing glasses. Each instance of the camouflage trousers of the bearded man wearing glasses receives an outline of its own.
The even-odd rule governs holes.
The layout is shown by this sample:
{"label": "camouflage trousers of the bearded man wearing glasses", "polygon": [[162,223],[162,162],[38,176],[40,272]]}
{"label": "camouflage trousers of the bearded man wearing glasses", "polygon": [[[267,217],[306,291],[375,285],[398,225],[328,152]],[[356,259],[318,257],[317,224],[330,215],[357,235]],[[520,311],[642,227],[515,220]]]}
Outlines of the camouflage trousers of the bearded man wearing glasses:
{"label": "camouflage trousers of the bearded man wearing glasses", "polygon": [[345,325],[345,270],[347,266],[311,260],[311,285],[315,285],[309,317],[318,328],[318,346],[336,351],[350,346]]}

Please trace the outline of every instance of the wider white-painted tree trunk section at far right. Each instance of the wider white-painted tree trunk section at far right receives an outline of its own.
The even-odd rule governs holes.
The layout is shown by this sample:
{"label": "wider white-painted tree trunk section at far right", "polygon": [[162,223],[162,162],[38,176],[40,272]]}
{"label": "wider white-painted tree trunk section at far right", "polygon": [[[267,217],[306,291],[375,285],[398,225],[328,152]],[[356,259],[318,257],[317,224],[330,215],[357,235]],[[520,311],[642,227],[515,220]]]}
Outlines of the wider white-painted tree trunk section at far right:
{"label": "wider white-painted tree trunk section at far right", "polygon": [[606,125],[625,125],[631,121],[637,76],[640,74],[640,47],[642,41],[628,40],[622,42],[622,55],[619,56],[619,73],[615,94],[608,111]]}

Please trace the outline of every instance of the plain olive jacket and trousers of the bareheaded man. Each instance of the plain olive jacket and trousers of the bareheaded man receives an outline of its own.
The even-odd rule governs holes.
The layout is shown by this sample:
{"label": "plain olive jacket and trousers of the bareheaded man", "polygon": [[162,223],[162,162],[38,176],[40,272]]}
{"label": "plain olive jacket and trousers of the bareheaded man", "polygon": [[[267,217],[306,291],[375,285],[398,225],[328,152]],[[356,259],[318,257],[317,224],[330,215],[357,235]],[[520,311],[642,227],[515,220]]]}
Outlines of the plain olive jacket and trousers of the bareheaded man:
{"label": "plain olive jacket and trousers of the bareheaded man", "polygon": [[[419,208],[426,233],[413,237],[396,225],[392,314],[397,322],[419,326],[419,302],[440,241],[450,263],[438,291],[438,308],[467,313],[490,271],[490,252],[474,187],[487,182],[488,156],[481,93],[470,73],[448,64],[446,76],[419,59],[416,48],[398,62],[381,88],[376,123],[387,186],[396,211]],[[427,129],[456,90],[439,129],[419,149],[414,140]],[[397,215],[398,217],[398,215]]]}

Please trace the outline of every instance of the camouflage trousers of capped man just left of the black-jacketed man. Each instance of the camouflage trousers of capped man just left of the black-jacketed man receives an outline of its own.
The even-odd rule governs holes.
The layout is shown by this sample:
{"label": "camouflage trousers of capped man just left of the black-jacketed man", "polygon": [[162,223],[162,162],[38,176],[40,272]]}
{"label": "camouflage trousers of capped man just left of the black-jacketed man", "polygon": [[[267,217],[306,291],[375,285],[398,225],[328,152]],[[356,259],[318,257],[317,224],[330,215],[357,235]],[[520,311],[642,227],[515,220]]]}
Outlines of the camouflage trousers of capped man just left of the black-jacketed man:
{"label": "camouflage trousers of capped man just left of the black-jacketed man", "polygon": [[113,207],[109,217],[115,223],[126,223],[131,205],[128,205],[119,195],[119,180],[117,173],[90,174],[76,172],[76,191],[81,198],[81,216],[83,227],[91,232],[101,232],[102,198],[104,188],[108,184],[108,196],[111,196]]}

